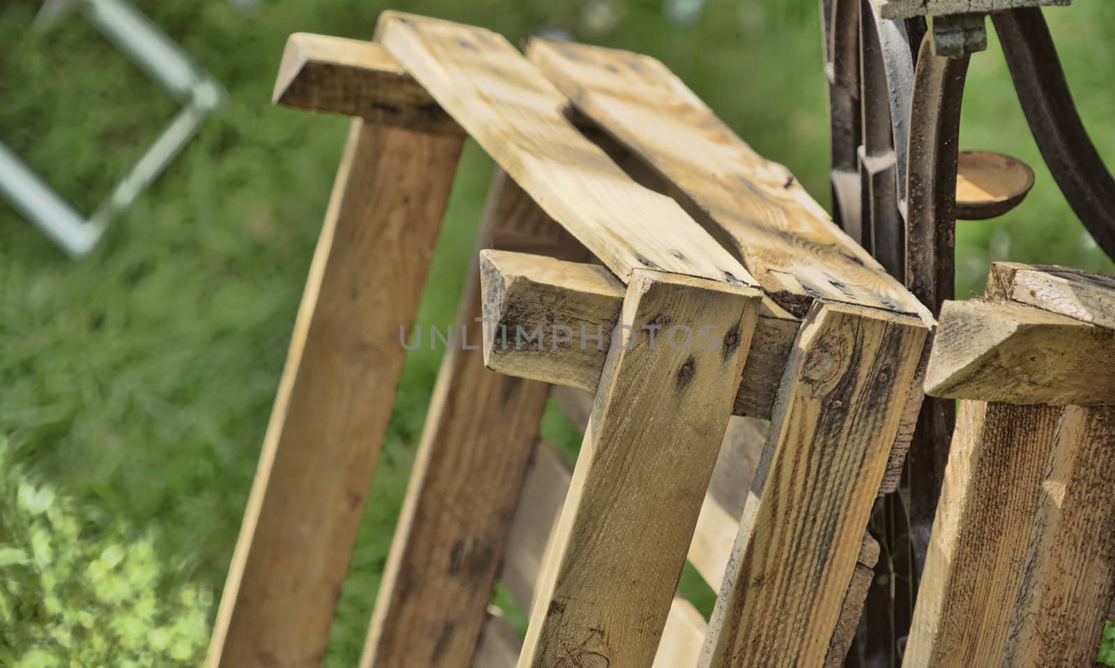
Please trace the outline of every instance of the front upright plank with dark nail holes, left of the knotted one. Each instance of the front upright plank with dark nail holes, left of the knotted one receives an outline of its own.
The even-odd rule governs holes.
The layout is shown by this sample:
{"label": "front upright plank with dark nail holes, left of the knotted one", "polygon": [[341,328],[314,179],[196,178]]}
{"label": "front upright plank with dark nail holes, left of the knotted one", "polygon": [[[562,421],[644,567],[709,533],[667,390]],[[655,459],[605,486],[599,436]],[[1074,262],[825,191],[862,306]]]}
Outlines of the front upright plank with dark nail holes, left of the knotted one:
{"label": "front upright plank with dark nail holes, left of the knotted one", "polygon": [[[727,427],[759,294],[638,270],[609,351],[521,667],[649,666]],[[650,345],[651,322],[717,346]],[[646,539],[655,536],[655,549]]]}

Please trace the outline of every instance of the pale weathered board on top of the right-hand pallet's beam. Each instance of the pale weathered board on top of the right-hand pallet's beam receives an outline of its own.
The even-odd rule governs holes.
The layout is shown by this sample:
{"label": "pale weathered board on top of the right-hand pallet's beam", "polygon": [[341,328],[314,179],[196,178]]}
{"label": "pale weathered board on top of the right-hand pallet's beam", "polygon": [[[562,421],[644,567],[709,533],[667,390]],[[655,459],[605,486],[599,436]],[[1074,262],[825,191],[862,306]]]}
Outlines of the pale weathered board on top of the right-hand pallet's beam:
{"label": "pale weathered board on top of the right-hand pallet's beam", "polygon": [[1115,275],[1078,269],[996,262],[988,296],[1115,329]]}

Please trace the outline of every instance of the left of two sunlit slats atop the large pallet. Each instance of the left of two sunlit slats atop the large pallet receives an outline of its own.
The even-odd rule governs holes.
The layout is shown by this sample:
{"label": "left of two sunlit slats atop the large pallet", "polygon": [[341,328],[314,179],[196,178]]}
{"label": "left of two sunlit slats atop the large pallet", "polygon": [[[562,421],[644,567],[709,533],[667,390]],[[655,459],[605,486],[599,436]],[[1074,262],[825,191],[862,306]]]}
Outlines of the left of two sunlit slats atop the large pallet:
{"label": "left of two sunlit slats atop the large pallet", "polygon": [[620,170],[562,114],[568,100],[488,30],[384,12],[387,50],[547,214],[624,283],[655,269],[755,280],[676,202]]}

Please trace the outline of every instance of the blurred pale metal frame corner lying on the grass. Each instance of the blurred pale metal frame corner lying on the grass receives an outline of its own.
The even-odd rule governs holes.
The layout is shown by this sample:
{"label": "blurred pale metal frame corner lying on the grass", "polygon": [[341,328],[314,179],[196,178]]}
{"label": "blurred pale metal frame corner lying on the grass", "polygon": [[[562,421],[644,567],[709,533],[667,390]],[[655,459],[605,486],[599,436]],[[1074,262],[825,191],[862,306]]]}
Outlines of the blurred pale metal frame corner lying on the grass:
{"label": "blurred pale metal frame corner lying on the grass", "polygon": [[0,195],[38,225],[70,256],[88,253],[109,222],[135,202],[190,142],[205,118],[221,109],[227,94],[155,23],[125,0],[47,0],[36,23],[48,26],[71,9],[183,104],[108,197],[86,219],[3,144],[0,144]]}

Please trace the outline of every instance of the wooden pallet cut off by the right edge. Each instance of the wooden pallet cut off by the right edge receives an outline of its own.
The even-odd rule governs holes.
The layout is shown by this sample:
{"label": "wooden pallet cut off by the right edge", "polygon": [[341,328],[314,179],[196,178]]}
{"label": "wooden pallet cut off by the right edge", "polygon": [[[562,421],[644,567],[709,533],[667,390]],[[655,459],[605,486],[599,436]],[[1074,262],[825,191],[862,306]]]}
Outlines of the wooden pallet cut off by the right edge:
{"label": "wooden pallet cut off by the right edge", "polygon": [[997,263],[947,302],[959,398],[903,666],[1088,666],[1115,597],[1115,279]]}

